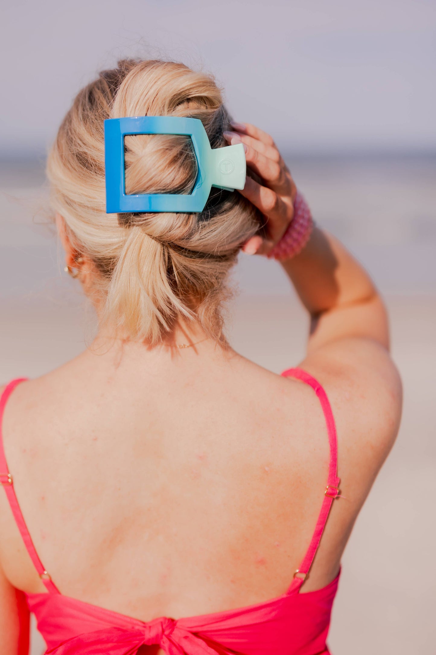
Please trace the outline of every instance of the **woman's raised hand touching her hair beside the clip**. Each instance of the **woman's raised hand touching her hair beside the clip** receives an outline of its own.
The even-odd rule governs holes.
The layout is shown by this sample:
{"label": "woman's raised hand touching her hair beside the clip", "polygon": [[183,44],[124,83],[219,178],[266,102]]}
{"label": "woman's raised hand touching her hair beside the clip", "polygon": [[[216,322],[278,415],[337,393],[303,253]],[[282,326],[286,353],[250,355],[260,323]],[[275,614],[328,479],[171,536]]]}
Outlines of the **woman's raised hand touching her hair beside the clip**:
{"label": "woman's raised hand touching her hair beside the clip", "polygon": [[248,255],[267,255],[280,241],[293,218],[297,189],[288,167],[269,134],[250,124],[231,122],[234,132],[224,132],[228,143],[243,143],[247,165],[261,179],[249,176],[240,191],[265,216],[265,235],[252,236],[243,245]]}

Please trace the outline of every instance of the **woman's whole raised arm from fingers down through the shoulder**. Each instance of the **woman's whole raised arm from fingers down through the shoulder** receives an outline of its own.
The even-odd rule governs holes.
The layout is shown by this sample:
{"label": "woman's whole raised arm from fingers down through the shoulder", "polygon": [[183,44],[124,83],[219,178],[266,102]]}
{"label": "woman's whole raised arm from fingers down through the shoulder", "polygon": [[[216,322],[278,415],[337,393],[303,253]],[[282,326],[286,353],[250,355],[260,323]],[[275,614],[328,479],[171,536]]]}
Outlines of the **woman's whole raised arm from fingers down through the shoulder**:
{"label": "woman's whole raised arm from fingers down through the shoulder", "polygon": [[[247,176],[241,193],[265,217],[263,232],[243,250],[268,255],[292,221],[297,189],[271,136],[252,125],[233,128],[237,131],[224,136],[244,143],[256,177]],[[346,443],[340,443],[340,464],[354,480],[350,493],[363,502],[401,417],[401,381],[388,354],[386,310],[365,269],[316,227],[301,253],[282,266],[311,318],[301,367],[320,380],[333,402],[339,438]]]}

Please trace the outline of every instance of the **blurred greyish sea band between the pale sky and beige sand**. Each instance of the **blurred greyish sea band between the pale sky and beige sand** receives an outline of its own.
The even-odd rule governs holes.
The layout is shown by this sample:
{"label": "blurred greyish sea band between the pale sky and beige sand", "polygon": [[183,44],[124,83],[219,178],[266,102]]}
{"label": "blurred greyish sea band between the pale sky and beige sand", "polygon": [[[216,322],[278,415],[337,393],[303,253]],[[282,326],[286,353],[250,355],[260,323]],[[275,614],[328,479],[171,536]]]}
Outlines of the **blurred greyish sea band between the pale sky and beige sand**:
{"label": "blurred greyish sea band between the pale sky and beige sand", "polygon": [[[316,222],[344,242],[382,293],[436,293],[436,154],[284,157]],[[0,212],[0,297],[59,300],[71,281],[46,225],[43,157],[0,160]],[[281,268],[263,257],[241,254],[233,278],[242,295],[292,294]]]}

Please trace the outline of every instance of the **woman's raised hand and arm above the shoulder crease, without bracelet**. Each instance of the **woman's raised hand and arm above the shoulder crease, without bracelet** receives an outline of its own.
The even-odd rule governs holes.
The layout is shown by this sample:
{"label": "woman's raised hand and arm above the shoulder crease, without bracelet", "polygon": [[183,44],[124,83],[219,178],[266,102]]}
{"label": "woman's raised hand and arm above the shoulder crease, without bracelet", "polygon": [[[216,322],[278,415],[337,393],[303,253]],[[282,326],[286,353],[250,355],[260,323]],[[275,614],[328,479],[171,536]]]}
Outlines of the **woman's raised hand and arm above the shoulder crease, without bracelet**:
{"label": "woman's raised hand and arm above the shoulder crease, without bracelet", "polygon": [[[247,177],[241,193],[266,219],[265,234],[253,236],[243,250],[267,255],[292,221],[295,183],[269,134],[252,125],[234,126],[238,132],[225,136],[231,143],[244,143],[247,164],[260,179]],[[336,238],[315,227],[302,252],[282,266],[310,313],[308,353],[344,337],[363,337],[389,347],[380,296],[365,269]]]}

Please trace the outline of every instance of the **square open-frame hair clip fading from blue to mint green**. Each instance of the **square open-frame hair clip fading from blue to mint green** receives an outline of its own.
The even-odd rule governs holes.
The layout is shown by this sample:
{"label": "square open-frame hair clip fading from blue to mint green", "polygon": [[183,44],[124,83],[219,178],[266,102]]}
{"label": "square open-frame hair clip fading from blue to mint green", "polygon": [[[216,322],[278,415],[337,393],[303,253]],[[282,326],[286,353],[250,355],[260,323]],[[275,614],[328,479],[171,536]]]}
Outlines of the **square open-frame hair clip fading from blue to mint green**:
{"label": "square open-frame hair clip fading from blue to mint green", "polygon": [[[192,193],[126,194],[124,137],[127,134],[182,134],[192,139],[198,174]],[[245,184],[242,143],[210,147],[199,119],[175,116],[137,116],[105,121],[105,176],[107,214],[143,212],[203,212],[211,187],[235,191]]]}

